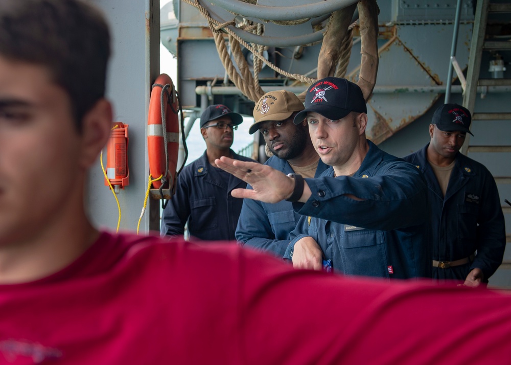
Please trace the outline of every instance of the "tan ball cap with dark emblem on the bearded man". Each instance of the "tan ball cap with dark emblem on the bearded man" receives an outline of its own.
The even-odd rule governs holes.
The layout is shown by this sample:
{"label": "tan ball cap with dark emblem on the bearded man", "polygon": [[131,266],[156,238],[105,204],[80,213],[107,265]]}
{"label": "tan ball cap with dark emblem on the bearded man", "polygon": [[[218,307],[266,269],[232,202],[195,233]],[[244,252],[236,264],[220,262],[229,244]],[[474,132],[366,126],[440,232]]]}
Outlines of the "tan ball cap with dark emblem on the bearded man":
{"label": "tan ball cap with dark emblem on the bearded man", "polygon": [[293,112],[304,109],[304,104],[291,92],[277,90],[266,93],[255,103],[253,110],[255,122],[248,129],[248,133],[255,133],[261,122],[282,121],[291,117]]}

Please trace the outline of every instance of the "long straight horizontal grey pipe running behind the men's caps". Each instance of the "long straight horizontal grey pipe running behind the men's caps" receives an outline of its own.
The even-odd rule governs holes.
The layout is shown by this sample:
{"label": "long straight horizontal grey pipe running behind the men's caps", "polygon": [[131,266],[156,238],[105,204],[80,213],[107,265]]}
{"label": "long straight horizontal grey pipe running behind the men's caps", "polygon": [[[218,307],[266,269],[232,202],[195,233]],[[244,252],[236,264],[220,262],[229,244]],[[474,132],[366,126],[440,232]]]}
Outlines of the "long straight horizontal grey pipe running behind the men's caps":
{"label": "long straight horizontal grey pipe running behind the men's caps", "polygon": [[[300,94],[304,91],[304,87],[300,86],[263,86],[266,92],[275,90],[288,90],[294,94]],[[410,85],[389,85],[389,86],[375,86],[373,94],[407,94],[407,93],[437,93],[443,94],[445,88],[441,85],[438,86],[410,86]],[[451,93],[461,94],[463,89],[461,85],[451,86]],[[478,86],[478,93],[509,93],[511,92],[511,86]],[[197,95],[243,95],[241,90],[236,86],[197,86],[195,88]]]}

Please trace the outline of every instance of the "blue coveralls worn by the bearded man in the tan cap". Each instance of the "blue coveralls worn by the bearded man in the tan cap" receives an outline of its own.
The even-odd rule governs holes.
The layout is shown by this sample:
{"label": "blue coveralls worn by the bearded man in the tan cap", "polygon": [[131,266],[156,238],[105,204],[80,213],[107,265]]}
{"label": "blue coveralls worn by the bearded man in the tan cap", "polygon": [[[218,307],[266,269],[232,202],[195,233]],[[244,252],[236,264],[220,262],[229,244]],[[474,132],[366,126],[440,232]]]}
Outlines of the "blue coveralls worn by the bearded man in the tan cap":
{"label": "blue coveralls worn by the bearded man in the tan cap", "polygon": [[[287,161],[272,156],[265,165],[285,174],[294,173]],[[319,176],[329,166],[321,160],[318,162],[315,176]],[[252,189],[247,185],[247,189]],[[282,258],[289,244],[289,233],[296,227],[300,215],[293,211],[293,203],[282,200],[270,204],[259,200],[244,199],[241,209],[236,239],[247,245],[275,254]]]}

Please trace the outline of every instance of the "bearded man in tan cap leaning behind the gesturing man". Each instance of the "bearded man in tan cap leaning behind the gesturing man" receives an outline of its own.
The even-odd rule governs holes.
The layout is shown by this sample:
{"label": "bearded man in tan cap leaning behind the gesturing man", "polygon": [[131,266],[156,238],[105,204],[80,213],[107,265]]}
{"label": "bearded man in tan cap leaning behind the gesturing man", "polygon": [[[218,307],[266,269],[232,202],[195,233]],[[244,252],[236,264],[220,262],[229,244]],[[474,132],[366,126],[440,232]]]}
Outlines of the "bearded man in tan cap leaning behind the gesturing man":
{"label": "bearded man in tan cap leaning behind the gesturing man", "polygon": [[[304,117],[297,125],[293,123],[297,113],[304,109],[296,95],[286,90],[266,93],[255,104],[255,121],[248,132],[253,134],[259,130],[273,153],[265,165],[285,174],[316,177],[328,166],[321,162],[314,150],[307,119]],[[250,185],[248,188],[251,189]],[[283,257],[290,242],[289,233],[294,230],[299,218],[290,201],[270,204],[244,199],[236,239],[242,245]]]}

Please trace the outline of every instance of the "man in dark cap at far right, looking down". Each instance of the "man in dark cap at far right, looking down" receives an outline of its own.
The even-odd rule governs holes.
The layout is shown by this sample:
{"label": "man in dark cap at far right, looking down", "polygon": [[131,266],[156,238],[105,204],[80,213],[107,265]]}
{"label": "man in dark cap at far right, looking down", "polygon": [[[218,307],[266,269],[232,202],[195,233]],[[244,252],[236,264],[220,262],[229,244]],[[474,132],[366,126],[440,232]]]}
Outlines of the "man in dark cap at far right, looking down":
{"label": "man in dark cap at far right, looking down", "polygon": [[479,286],[502,263],[506,233],[495,179],[459,153],[467,133],[472,134],[471,121],[461,105],[440,106],[429,125],[430,143],[404,159],[428,182],[433,278]]}

